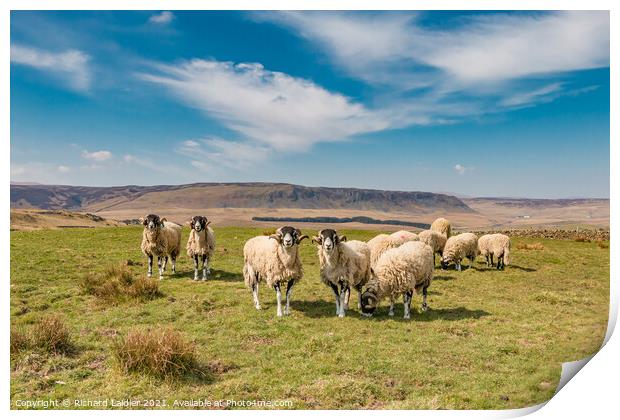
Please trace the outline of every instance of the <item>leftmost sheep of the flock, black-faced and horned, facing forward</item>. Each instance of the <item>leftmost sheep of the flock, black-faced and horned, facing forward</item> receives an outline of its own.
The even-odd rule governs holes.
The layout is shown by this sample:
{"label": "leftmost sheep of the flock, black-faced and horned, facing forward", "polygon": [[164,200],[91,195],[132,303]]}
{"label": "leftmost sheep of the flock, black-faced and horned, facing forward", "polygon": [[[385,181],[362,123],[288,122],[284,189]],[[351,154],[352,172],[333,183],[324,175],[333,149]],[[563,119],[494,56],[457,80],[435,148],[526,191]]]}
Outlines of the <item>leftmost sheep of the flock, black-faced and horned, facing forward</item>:
{"label": "leftmost sheep of the flock, black-faced and horned, facing forward", "polygon": [[140,248],[149,259],[147,276],[153,275],[153,257],[157,257],[160,280],[164,278],[168,257],[172,260],[172,273],[176,273],[177,257],[181,252],[181,226],[156,214],[141,217],[140,223],[144,225]]}

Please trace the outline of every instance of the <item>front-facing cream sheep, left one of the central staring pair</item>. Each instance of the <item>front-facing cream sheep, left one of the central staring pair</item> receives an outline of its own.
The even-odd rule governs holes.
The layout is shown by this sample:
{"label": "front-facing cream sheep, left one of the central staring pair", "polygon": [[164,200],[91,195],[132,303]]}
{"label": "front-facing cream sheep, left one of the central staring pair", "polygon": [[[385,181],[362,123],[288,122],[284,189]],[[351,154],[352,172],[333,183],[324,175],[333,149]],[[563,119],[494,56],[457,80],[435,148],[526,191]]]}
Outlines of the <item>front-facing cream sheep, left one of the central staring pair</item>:
{"label": "front-facing cream sheep, left one of the central staring pair", "polygon": [[243,279],[245,285],[252,289],[256,309],[260,309],[258,285],[264,280],[268,287],[273,287],[276,291],[277,316],[282,316],[280,285],[286,282],[284,314],[289,315],[291,291],[303,276],[299,244],[307,238],[308,236],[302,235],[299,229],[283,226],[273,235],[256,236],[245,243],[243,246]]}

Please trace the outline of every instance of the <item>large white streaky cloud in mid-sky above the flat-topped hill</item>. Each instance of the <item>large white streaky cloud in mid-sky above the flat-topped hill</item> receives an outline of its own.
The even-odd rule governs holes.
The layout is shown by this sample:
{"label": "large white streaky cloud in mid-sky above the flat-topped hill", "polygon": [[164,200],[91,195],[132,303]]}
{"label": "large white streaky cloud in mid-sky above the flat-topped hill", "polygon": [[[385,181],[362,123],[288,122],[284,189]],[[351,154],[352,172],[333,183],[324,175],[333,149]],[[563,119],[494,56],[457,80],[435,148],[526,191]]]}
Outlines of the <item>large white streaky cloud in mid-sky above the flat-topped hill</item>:
{"label": "large white streaky cloud in mid-sky above the flat-topped hill", "polygon": [[[244,141],[276,151],[303,151],[317,142],[390,126],[384,114],[257,63],[192,60],[178,66],[160,65],[157,70],[158,74],[140,77],[167,87],[239,133]],[[211,144],[223,147],[222,143]]]}

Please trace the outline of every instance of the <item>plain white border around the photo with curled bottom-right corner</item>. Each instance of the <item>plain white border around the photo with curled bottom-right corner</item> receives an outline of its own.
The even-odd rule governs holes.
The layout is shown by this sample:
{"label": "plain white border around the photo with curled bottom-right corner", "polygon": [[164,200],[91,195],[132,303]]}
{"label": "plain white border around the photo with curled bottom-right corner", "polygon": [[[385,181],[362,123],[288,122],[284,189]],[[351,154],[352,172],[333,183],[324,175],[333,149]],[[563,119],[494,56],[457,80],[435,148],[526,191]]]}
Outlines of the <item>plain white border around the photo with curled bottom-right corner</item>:
{"label": "plain white border around the photo with curled bottom-right corner", "polygon": [[[7,222],[10,220],[10,10],[198,10],[198,9],[213,9],[213,10],[340,10],[340,9],[358,9],[358,10],[610,10],[611,18],[611,116],[620,115],[620,92],[618,90],[618,48],[620,43],[618,42],[618,24],[619,11],[618,2],[612,2],[611,0],[512,0],[512,1],[459,1],[459,0],[445,0],[445,1],[403,1],[403,0],[383,0],[383,1],[369,1],[369,0],[357,0],[357,1],[338,1],[338,0],[314,0],[314,1],[283,1],[283,0],[229,0],[226,2],[220,1],[191,1],[191,0],[179,0],[175,2],[163,1],[163,0],[132,0],[127,2],[126,0],[93,0],[87,4],[78,0],[55,0],[55,1],[37,1],[37,0],[4,0],[0,8],[2,8],[2,14],[0,15],[0,39],[2,45],[2,109],[4,110],[0,114],[0,121],[2,127],[3,141],[0,142],[0,156],[2,162],[0,164],[0,172],[2,173],[2,179],[4,179],[4,193],[2,194],[2,215]],[[615,226],[618,226],[618,220],[620,217],[620,207],[618,206],[618,182],[615,181],[616,176],[619,175],[618,164],[618,145],[617,141],[620,139],[620,132],[618,130],[618,120],[612,117],[611,120],[611,139],[616,139],[616,142],[611,142],[610,145],[610,170],[611,170],[611,227],[612,230]],[[584,141],[584,149],[587,147],[587,140]],[[615,238],[615,231],[612,232],[612,236]],[[0,232],[1,244],[2,244],[2,256],[1,262],[3,267],[4,287],[9,287],[9,253],[8,244],[10,243],[9,229],[5,227]],[[615,322],[618,316],[618,264],[617,261],[617,247],[615,241],[611,242],[611,307],[610,307],[610,319],[609,328],[606,336],[606,345],[599,351],[593,359],[583,368],[577,377],[568,382],[568,384],[560,390],[560,392],[553,397],[544,408],[536,411],[540,407],[532,407],[521,410],[506,410],[506,411],[403,411],[392,412],[390,415],[397,414],[400,417],[408,418],[504,418],[514,417],[528,414],[532,411],[536,411],[532,414],[531,418],[546,419],[546,418],[573,418],[573,417],[586,417],[587,418],[608,418],[618,413],[618,375],[620,374],[620,364],[618,362],[617,355],[620,354],[620,341],[617,334],[611,335]],[[9,325],[10,325],[10,313],[9,313],[9,293],[5,289],[5,293],[2,294],[3,300],[3,358],[2,358],[2,372],[5,380],[0,382],[1,395],[4,395],[5,400],[4,408],[10,411],[10,390],[9,380],[10,378],[10,366],[9,366]],[[326,417],[341,416],[356,418],[374,418],[377,415],[381,415],[382,412],[370,412],[370,411],[331,411],[331,412],[317,412],[317,411],[296,411],[295,416],[299,418],[308,418],[310,416],[321,415]],[[385,413],[385,412],[383,412]],[[612,414],[613,413],[613,414]],[[49,416],[50,418],[61,417],[73,417],[81,418],[85,414],[84,411],[45,411],[45,412],[33,412],[33,411],[10,411],[9,415],[14,417],[39,417]],[[138,417],[148,416],[149,418],[165,418],[172,413],[169,411],[157,412],[157,411],[138,411],[138,412],[116,412],[115,416],[129,416],[134,415]],[[386,413],[387,414],[387,413]],[[103,417],[108,415],[107,412],[95,412],[89,411],[89,416]],[[195,413],[193,411],[175,411],[174,416],[182,417],[195,417],[203,415],[203,413]],[[263,415],[263,412],[258,411],[240,411],[240,412],[217,412],[210,411],[209,416],[213,417],[256,417]],[[286,412],[269,412],[270,416],[284,418],[289,416]]]}

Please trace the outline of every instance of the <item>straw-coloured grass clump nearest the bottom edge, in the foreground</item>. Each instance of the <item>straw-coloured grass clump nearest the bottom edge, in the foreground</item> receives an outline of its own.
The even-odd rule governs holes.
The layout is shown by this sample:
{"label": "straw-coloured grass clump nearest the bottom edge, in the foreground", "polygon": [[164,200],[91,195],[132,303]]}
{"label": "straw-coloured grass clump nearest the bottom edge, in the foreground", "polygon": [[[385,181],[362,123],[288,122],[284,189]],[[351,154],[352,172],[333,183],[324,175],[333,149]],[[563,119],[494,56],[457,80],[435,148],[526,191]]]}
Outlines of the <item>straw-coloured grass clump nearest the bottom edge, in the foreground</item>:
{"label": "straw-coloured grass clump nearest the bottom edge, in the foreground", "polygon": [[172,328],[133,329],[116,340],[113,353],[124,372],[160,377],[200,372],[196,346]]}

